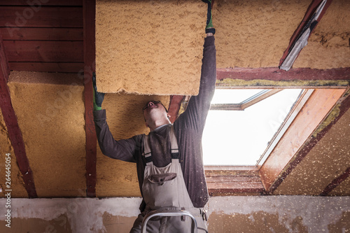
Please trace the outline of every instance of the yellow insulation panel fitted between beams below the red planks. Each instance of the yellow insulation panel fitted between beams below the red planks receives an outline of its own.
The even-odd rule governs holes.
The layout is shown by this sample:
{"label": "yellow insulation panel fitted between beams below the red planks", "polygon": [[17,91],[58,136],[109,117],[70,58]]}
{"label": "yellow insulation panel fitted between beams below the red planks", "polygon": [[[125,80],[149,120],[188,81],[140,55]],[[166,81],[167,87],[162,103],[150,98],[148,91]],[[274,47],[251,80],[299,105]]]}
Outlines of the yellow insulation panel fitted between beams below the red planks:
{"label": "yellow insulation panel fitted between beams below the red planks", "polygon": [[38,197],[85,196],[83,85],[75,81],[76,75],[10,73],[12,104]]}

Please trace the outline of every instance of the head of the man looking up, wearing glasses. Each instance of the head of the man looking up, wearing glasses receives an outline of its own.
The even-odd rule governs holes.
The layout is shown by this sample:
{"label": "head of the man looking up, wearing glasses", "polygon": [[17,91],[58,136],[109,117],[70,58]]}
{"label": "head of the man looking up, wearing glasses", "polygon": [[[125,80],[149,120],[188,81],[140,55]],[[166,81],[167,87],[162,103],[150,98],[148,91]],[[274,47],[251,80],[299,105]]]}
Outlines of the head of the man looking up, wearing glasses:
{"label": "head of the man looking up, wearing glasses", "polygon": [[142,110],[146,127],[149,127],[151,131],[161,125],[170,124],[170,115],[161,101],[148,101]]}

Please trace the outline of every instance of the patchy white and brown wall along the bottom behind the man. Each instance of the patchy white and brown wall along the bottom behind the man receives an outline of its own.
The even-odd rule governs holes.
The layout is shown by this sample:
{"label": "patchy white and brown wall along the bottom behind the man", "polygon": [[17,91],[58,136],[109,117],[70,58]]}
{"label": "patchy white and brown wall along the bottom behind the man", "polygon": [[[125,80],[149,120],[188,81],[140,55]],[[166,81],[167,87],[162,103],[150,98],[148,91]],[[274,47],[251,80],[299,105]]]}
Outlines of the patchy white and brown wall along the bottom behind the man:
{"label": "patchy white and brown wall along the bottom behind the man", "polygon": [[[129,232],[141,199],[0,199],[0,232]],[[209,232],[349,232],[350,197],[211,197]]]}

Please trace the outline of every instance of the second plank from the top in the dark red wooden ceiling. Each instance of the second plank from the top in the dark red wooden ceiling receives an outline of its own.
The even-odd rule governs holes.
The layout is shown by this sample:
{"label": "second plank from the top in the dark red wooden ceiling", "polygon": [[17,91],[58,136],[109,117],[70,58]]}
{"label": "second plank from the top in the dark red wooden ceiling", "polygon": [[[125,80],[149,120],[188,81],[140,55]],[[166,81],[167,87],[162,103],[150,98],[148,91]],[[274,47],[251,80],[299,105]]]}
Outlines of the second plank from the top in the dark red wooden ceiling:
{"label": "second plank from the top in the dark red wooden ceiling", "polygon": [[81,7],[0,7],[0,27],[9,27],[10,35],[20,27],[83,27],[82,19]]}

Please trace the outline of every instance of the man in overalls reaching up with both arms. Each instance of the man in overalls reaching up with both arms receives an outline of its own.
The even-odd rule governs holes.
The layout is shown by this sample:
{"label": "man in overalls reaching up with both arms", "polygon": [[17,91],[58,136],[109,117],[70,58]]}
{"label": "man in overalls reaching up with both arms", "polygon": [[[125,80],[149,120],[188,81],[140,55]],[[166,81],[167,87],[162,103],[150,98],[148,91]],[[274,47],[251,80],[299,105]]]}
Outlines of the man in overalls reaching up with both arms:
{"label": "man in overalls reaching up with both arms", "polygon": [[[209,200],[202,160],[202,132],[214,95],[216,82],[215,29],[208,4],[207,37],[204,38],[200,91],[190,98],[188,107],[172,125],[167,108],[160,101],[148,101],[143,110],[148,135],[114,140],[102,109],[104,93],[97,92],[94,78],[94,122],[99,147],[104,155],[137,163],[139,188],[143,197],[137,220],[130,232],[141,232],[144,216],[155,209],[182,209],[197,220],[198,232],[207,232],[204,205]],[[155,217],[147,232],[190,232],[189,217]]]}

